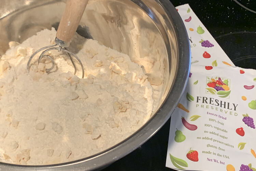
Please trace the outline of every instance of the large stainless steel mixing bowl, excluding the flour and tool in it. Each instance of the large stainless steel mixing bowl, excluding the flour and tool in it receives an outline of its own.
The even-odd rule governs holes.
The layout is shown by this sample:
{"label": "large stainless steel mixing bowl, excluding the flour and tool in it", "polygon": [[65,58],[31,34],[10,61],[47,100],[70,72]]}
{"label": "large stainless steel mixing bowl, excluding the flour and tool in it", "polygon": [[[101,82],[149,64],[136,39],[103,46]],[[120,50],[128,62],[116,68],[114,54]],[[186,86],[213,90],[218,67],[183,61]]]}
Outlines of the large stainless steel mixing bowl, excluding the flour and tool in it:
{"label": "large stainless steel mixing bowl, excluding the flour and tool in it", "polygon": [[[57,29],[64,7],[61,0],[2,0],[0,55],[9,41],[22,42],[42,29]],[[100,169],[152,137],[179,102],[189,74],[190,47],[184,24],[169,0],[90,0],[80,24],[80,35],[128,54],[132,61],[145,56],[161,61],[163,88],[156,112],[136,133],[94,156],[45,166],[0,163],[0,170]]]}

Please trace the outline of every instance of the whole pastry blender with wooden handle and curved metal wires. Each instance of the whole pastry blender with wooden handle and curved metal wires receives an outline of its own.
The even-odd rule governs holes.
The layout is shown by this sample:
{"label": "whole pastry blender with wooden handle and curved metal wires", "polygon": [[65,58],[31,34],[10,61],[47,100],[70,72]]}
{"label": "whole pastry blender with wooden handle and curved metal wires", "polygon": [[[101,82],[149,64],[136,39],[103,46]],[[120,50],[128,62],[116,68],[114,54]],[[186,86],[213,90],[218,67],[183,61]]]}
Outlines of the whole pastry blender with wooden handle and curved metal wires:
{"label": "whole pastry blender with wooden handle and curved metal wires", "polygon": [[69,51],[67,49],[67,47],[69,47],[70,42],[72,41],[72,38],[73,38],[75,31],[79,25],[79,22],[82,18],[82,15],[84,13],[87,3],[88,3],[88,0],[67,0],[66,8],[65,8],[64,14],[62,15],[62,18],[60,20],[59,27],[58,27],[58,30],[56,33],[56,38],[55,38],[56,44],[49,45],[49,46],[43,47],[43,48],[35,51],[30,56],[30,58],[28,60],[27,72],[29,72],[29,70],[30,70],[30,63],[31,63],[31,60],[33,59],[33,57],[41,51],[43,51],[43,52],[39,56],[38,64],[40,63],[40,61],[43,57],[47,57],[47,58],[51,59],[52,67],[46,69],[47,72],[51,71],[55,66],[54,59],[45,53],[48,51],[51,51],[51,50],[58,50],[58,52],[63,51],[68,54],[68,56],[72,62],[72,65],[74,67],[74,70],[75,70],[74,75],[76,74],[76,66],[75,66],[72,56],[77,59],[77,61],[80,63],[81,68],[82,68],[82,78],[84,78],[84,66],[83,66],[81,60],[74,53]]}

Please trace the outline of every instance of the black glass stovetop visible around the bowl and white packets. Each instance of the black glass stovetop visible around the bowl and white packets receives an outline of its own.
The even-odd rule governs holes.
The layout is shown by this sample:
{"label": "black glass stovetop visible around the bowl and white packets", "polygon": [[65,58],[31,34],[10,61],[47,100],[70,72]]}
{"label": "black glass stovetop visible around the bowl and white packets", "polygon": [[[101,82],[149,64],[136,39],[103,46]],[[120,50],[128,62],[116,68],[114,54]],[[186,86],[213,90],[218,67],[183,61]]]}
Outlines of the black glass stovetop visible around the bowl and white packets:
{"label": "black glass stovetop visible around the bowl and white packets", "polygon": [[[171,0],[188,3],[234,65],[256,69],[256,0]],[[171,171],[165,167],[170,119],[150,140],[103,171]]]}

